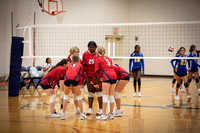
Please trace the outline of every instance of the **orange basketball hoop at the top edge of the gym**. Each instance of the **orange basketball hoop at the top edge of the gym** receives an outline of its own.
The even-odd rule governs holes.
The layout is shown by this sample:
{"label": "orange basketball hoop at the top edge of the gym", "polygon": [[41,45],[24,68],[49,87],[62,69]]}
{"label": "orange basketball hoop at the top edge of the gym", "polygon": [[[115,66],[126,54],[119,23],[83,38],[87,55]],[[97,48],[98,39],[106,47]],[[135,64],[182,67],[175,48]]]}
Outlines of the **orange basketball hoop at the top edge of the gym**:
{"label": "orange basketball hoop at the top edge of the gym", "polygon": [[42,4],[38,0],[38,3],[40,6],[42,5],[42,11],[44,11],[52,16],[66,12],[63,10],[63,1],[62,0],[42,0]]}

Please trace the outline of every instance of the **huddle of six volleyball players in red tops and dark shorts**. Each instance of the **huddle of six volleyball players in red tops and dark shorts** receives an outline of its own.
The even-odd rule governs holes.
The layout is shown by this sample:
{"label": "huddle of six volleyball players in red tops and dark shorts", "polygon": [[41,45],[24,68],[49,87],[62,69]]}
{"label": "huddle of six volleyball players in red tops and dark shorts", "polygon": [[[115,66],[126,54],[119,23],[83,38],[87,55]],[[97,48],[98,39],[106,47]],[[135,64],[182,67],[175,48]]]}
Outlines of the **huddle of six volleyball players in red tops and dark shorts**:
{"label": "huddle of six volleyball players in red tops and dark shorts", "polygon": [[[63,78],[64,81],[62,81]],[[127,71],[117,64],[112,65],[112,60],[105,56],[104,47],[97,47],[95,42],[89,42],[88,51],[83,54],[82,61],[80,61],[79,58],[79,49],[77,47],[72,47],[69,57],[61,60],[61,62],[53,67],[41,80],[41,87],[50,96],[49,117],[65,119],[69,92],[72,90],[76,113],[81,114],[81,120],[87,118],[83,112],[81,96],[81,88],[84,86],[84,81],[88,89],[89,109],[86,112],[87,115],[92,114],[94,93],[96,93],[99,102],[99,111],[96,113],[99,115],[96,117],[97,119],[106,120],[108,118],[114,119],[114,116],[122,116],[123,112],[120,109],[120,92],[126,86],[129,79],[130,76]],[[60,114],[54,111],[54,104],[56,101],[54,88],[59,81],[62,90]],[[106,115],[108,101],[110,101],[110,111],[109,114]],[[114,102],[117,104],[117,110],[115,112]]]}

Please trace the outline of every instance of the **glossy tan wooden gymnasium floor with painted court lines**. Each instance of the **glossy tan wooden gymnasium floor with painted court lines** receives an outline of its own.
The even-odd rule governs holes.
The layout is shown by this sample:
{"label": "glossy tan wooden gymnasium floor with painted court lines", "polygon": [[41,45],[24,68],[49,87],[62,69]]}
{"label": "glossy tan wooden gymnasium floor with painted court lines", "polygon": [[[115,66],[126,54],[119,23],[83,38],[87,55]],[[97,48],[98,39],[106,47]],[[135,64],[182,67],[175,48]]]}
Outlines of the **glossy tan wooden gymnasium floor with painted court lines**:
{"label": "glossy tan wooden gymnasium floor with painted court lines", "polygon": [[[190,104],[186,102],[185,93],[180,96],[180,102],[174,101],[171,81],[171,78],[142,78],[142,98],[134,98],[131,79],[121,95],[123,117],[107,121],[96,120],[95,115],[79,120],[72,101],[67,107],[66,120],[48,118],[49,98],[42,89],[21,90],[19,97],[8,97],[8,86],[0,85],[0,133],[199,133],[200,96],[197,96],[194,80],[190,86]],[[59,89],[57,94],[60,97]],[[57,102],[58,110],[59,98]],[[83,104],[86,111],[87,101]],[[93,112],[97,107],[95,100]]]}

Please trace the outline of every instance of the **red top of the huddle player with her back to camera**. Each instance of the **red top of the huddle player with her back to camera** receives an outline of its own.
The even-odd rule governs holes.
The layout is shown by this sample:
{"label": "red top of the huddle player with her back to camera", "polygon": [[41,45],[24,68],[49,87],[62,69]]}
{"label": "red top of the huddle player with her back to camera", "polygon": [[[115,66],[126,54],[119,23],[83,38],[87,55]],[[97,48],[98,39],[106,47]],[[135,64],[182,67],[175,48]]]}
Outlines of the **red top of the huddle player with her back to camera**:
{"label": "red top of the huddle player with her back to camera", "polygon": [[73,67],[71,68],[71,64],[67,65],[67,70],[65,74],[65,81],[66,80],[75,80],[80,82],[80,85],[83,85],[83,66],[80,62],[76,62]]}

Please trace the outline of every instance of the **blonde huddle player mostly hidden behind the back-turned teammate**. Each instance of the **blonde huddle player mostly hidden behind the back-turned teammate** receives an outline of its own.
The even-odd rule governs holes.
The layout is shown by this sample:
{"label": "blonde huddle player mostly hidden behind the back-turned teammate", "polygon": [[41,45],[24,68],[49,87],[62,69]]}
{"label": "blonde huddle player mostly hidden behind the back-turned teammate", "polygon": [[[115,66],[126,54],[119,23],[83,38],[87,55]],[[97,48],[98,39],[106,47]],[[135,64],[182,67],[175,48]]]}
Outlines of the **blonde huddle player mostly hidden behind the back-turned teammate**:
{"label": "blonde huddle player mostly hidden behind the back-turned teammate", "polygon": [[[69,54],[69,56],[67,57],[67,59],[68,59],[69,62],[71,63],[71,62],[72,62],[72,60],[71,60],[72,56],[74,56],[74,55],[79,55],[80,50],[79,50],[78,47],[73,46],[73,47],[70,48],[69,52],[70,52],[70,54]],[[60,79],[60,88],[61,88],[61,91],[62,91],[62,95],[61,95],[61,107],[60,107],[61,111],[60,111],[60,112],[62,113],[62,108],[63,108],[63,97],[64,97],[64,77],[61,77],[61,79]],[[75,92],[74,92],[73,89],[72,89],[72,93],[74,94],[73,99],[74,99],[74,105],[76,106],[76,111],[75,111],[75,113],[76,113],[76,114],[79,114],[79,113],[80,113],[80,109],[79,109],[79,107],[78,107],[77,100],[76,100],[76,95],[75,95]]]}

